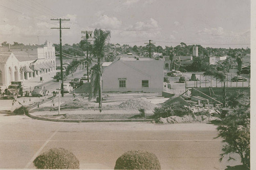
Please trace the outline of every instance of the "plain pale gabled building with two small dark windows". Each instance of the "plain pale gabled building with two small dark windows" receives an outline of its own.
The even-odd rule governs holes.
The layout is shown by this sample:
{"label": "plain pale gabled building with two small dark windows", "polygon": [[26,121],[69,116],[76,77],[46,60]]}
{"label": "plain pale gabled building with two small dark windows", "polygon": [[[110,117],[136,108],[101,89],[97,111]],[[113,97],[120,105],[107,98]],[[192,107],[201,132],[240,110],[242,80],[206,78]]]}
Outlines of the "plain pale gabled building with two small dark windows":
{"label": "plain pale gabled building with two small dark windows", "polygon": [[162,90],[163,60],[119,57],[103,70],[102,91]]}

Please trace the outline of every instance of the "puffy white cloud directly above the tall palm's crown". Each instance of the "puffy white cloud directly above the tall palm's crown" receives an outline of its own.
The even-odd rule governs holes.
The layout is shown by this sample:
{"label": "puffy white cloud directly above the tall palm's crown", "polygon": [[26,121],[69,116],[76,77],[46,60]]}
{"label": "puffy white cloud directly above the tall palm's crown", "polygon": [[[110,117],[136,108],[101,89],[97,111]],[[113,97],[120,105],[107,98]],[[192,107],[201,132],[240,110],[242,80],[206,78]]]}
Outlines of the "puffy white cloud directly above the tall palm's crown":
{"label": "puffy white cloud directly above the tall palm's crown", "polygon": [[116,17],[109,17],[108,15],[102,15],[99,17],[98,21],[93,23],[93,27],[101,29],[117,29],[122,25],[122,21],[118,20]]}

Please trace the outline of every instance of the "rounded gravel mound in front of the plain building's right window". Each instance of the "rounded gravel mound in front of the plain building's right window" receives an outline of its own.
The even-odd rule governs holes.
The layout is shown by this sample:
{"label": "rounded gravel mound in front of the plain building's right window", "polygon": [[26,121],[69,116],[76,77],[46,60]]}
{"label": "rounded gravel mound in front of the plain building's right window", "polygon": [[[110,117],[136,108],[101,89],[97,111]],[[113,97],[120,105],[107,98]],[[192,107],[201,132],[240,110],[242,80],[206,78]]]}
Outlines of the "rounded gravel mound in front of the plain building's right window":
{"label": "rounded gravel mound in front of the plain building's right window", "polygon": [[157,105],[143,101],[141,99],[129,99],[120,105],[118,105],[120,109],[123,110],[138,110],[138,109],[145,109],[145,110],[154,110]]}

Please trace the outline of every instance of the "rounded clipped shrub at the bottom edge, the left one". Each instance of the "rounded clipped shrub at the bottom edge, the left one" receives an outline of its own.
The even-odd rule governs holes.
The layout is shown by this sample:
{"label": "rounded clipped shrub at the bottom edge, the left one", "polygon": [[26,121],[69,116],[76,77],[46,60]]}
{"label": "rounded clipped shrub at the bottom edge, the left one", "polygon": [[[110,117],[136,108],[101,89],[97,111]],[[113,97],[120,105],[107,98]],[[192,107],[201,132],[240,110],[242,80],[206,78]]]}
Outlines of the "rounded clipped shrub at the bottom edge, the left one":
{"label": "rounded clipped shrub at the bottom edge, the left one", "polygon": [[33,161],[37,169],[79,169],[76,156],[63,148],[53,148]]}

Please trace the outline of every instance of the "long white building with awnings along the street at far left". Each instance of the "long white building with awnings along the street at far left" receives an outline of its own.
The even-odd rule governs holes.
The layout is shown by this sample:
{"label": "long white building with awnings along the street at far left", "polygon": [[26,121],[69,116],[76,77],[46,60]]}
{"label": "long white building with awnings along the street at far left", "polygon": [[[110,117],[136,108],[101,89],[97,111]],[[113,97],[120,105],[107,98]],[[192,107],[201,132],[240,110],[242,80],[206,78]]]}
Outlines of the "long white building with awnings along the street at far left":
{"label": "long white building with awnings along the street at far left", "polygon": [[11,81],[27,81],[55,70],[55,47],[51,42],[0,47],[0,86],[8,86]]}

